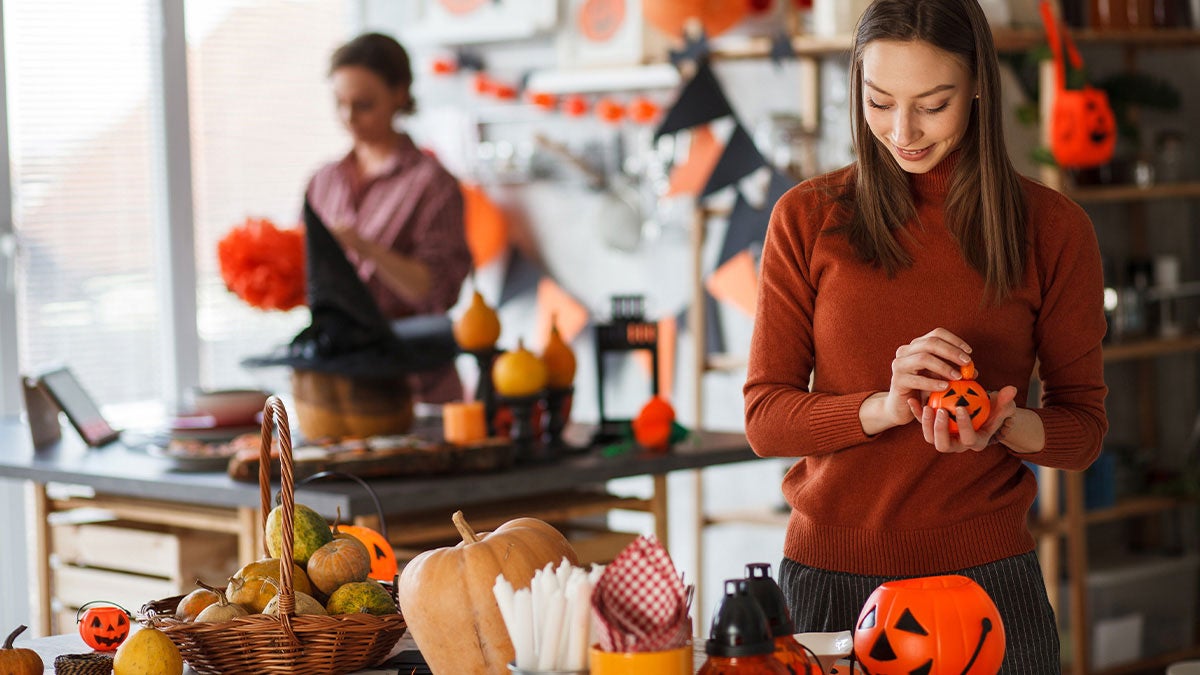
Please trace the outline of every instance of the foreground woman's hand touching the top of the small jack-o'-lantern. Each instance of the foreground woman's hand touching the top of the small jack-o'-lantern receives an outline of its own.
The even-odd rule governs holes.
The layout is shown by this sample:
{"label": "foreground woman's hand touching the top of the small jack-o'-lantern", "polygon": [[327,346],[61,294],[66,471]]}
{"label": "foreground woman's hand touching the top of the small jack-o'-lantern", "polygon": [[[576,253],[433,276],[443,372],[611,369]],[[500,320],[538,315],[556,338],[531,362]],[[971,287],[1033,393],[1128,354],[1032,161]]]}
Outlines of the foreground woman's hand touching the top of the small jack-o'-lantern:
{"label": "foreground woman's hand touching the top of the small jack-o'-lantern", "polygon": [[931,392],[941,392],[962,377],[959,370],[971,362],[971,346],[944,328],[935,328],[896,350],[892,383],[883,407],[896,426],[920,419],[922,404]]}

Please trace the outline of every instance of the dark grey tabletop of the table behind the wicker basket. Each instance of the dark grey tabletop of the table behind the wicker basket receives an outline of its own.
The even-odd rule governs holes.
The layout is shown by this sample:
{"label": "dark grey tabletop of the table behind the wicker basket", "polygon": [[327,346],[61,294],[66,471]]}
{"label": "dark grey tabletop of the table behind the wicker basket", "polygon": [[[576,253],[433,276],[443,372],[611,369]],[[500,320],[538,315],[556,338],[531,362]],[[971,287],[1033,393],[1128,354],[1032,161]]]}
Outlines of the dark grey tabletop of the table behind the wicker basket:
{"label": "dark grey tabletop of the table behind the wicker basket", "polygon": [[[586,437],[578,429],[574,437]],[[586,452],[541,465],[517,465],[487,473],[372,478],[371,486],[389,515],[516,498],[602,484],[612,478],[659,474],[756,459],[740,432],[701,431],[665,454],[628,453],[614,458]],[[223,472],[185,472],[172,461],[121,442],[89,449],[70,428],[62,440],[34,450],[29,430],[0,420],[0,477],[36,483],[86,485],[98,494],[212,507],[259,506],[258,485]],[[349,482],[324,480],[296,489],[296,501],[334,518],[374,514],[370,496]]]}

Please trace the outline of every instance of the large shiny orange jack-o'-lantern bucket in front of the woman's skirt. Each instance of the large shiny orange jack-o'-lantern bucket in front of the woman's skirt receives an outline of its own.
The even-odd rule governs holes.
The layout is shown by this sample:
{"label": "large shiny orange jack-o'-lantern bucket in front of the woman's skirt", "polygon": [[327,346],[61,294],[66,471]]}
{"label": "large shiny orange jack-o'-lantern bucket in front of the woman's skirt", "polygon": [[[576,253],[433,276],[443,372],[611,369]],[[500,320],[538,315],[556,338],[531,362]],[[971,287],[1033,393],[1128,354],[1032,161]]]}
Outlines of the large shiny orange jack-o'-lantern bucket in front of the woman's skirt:
{"label": "large shiny orange jack-o'-lantern bucket in front of the woman's skirt", "polygon": [[992,675],[1004,661],[1004,626],[966,577],[887,581],[858,615],[854,656],[868,673]]}

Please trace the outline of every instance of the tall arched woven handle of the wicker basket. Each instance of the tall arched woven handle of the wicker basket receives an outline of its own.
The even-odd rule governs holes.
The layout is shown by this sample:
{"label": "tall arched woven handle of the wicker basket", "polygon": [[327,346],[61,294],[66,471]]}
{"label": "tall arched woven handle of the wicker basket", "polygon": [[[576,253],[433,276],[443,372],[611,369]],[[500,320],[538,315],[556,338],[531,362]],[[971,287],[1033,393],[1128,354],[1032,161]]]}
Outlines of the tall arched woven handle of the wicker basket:
{"label": "tall arched woven handle of the wicker basket", "polygon": [[[258,495],[263,520],[263,549],[266,549],[266,516],[271,510],[271,438],[280,436],[280,497],[283,512],[280,514],[280,623],[288,640],[299,644],[292,629],[292,616],[295,611],[295,593],[292,587],[292,571],[295,565],[293,551],[295,538],[295,471],[292,464],[292,428],[288,424],[288,411],[278,396],[270,396],[263,405],[263,436],[258,447]],[[268,551],[270,555],[270,551]]]}

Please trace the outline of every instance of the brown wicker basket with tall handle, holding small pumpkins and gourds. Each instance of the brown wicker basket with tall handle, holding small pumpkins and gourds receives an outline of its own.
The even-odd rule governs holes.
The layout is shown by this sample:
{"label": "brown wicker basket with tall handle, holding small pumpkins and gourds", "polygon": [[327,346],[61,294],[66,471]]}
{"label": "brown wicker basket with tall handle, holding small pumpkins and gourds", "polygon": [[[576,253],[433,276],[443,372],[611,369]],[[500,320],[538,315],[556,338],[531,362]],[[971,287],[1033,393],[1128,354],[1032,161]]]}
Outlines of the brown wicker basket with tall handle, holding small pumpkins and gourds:
{"label": "brown wicker basket with tall handle, holding small pumpkins and gourds", "polygon": [[[270,512],[270,446],[272,430],[280,436],[283,526],[280,558],[280,615],[254,614],[220,623],[187,623],[174,619],[179,597],[148,603],[144,621],[170,638],[184,661],[203,675],[293,675],[296,673],[352,673],[383,662],[404,633],[400,614],[294,615],[292,587],[295,476],[287,411],[276,396],[263,408],[259,450],[259,492],[265,528]],[[265,537],[264,537],[265,548]]]}

